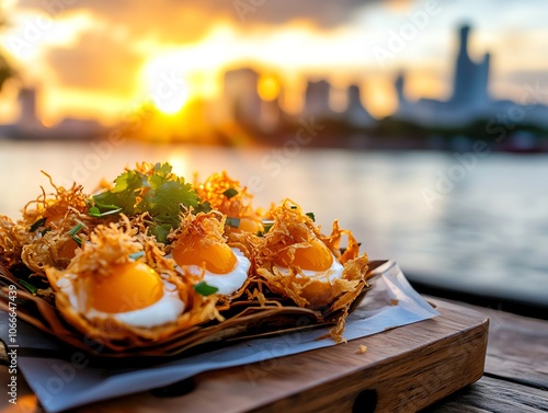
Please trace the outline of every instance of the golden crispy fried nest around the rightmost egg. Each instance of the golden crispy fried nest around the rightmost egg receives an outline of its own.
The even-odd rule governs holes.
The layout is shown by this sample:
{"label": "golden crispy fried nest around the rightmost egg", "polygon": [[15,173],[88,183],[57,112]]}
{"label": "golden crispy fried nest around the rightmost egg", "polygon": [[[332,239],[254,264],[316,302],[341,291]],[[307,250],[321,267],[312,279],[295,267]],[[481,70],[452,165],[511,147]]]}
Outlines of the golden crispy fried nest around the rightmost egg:
{"label": "golden crispy fried nest around the rightmost egg", "polygon": [[[270,290],[289,298],[299,307],[321,310],[324,317],[339,313],[336,326],[331,335],[341,341],[351,305],[367,287],[367,255],[358,256],[359,245],[352,232],[341,230],[336,220],[333,222],[331,234],[323,236],[313,220],[290,199],[285,199],[273,208],[270,215],[274,223],[258,242],[256,274],[264,279]],[[341,253],[340,243],[343,236],[346,236],[349,241],[344,253]],[[288,274],[282,274],[274,265],[282,251],[286,251],[293,259],[297,249],[308,248],[309,241],[315,238],[321,240],[343,264],[341,278],[330,282],[329,272],[308,277],[298,265],[289,265]]]}

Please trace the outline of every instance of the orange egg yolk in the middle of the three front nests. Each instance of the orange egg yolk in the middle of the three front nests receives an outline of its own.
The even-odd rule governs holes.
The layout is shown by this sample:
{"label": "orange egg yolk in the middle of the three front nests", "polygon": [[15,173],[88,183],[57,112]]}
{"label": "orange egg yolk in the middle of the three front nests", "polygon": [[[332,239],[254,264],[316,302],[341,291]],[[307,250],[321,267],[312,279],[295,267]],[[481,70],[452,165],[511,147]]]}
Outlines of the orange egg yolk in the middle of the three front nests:
{"label": "orange egg yolk in the middle of the three front nests", "polygon": [[236,266],[236,255],[226,243],[198,244],[192,249],[173,249],[173,260],[179,265],[203,265],[214,274],[230,273]]}

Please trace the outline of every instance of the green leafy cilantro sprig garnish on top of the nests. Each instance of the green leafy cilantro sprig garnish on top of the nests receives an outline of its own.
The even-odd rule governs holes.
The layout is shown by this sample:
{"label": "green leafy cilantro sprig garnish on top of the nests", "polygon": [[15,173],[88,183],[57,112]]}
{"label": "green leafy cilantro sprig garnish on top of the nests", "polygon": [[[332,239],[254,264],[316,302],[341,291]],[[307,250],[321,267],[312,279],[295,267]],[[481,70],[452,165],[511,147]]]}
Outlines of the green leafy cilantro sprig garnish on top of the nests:
{"label": "green leafy cilantro sprig garnish on top of the nests", "polygon": [[165,242],[170,229],[179,226],[181,206],[210,209],[206,203],[199,204],[192,185],[172,173],[169,163],[157,163],[148,173],[124,172],[116,177],[112,190],[93,196],[91,204],[88,214],[96,218],[149,213],[153,219],[150,231],[160,242]]}

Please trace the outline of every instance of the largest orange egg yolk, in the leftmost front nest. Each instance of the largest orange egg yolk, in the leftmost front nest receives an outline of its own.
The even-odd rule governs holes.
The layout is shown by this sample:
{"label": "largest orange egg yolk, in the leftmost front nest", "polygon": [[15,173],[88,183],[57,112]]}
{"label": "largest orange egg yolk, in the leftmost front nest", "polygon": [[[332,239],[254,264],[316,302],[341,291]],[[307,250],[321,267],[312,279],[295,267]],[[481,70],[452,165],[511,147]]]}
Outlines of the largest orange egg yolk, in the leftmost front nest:
{"label": "largest orange egg yolk, in the leftmost front nest", "polygon": [[163,283],[158,273],[140,262],[113,265],[110,276],[93,277],[91,282],[88,291],[91,307],[103,312],[139,310],[163,296]]}

